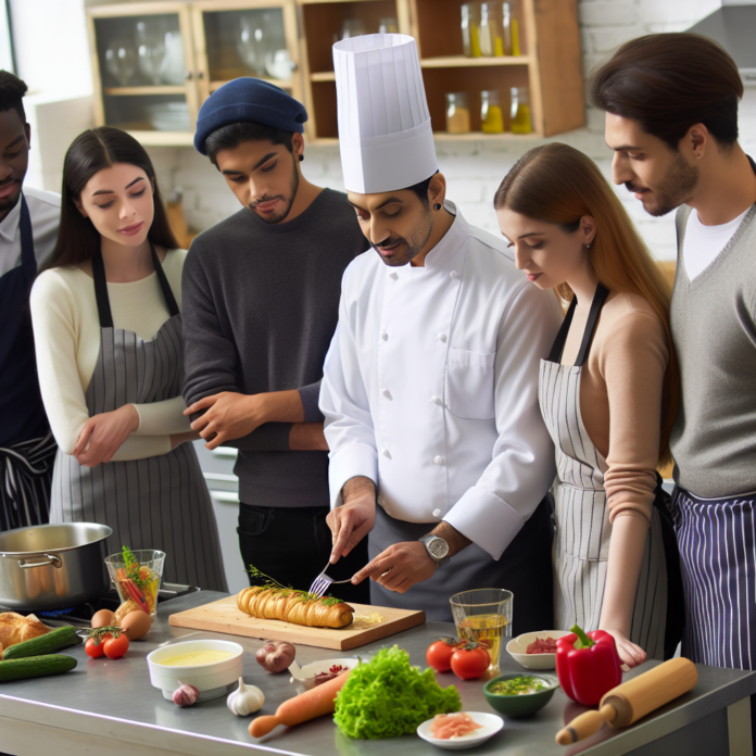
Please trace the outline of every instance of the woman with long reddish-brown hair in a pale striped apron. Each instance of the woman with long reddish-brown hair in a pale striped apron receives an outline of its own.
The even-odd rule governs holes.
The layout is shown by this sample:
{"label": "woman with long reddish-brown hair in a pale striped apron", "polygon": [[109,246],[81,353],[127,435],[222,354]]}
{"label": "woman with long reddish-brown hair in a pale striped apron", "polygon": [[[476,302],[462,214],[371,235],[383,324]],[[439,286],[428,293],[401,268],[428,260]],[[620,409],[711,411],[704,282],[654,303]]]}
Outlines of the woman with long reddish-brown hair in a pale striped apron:
{"label": "woman with long reddish-brown hair in a pale striped apron", "polygon": [[656,472],[677,411],[670,292],[612,187],[571,147],[526,153],[494,207],[517,267],[570,302],[539,386],[556,446],[557,627],[610,632],[629,666],[668,658],[682,616]]}

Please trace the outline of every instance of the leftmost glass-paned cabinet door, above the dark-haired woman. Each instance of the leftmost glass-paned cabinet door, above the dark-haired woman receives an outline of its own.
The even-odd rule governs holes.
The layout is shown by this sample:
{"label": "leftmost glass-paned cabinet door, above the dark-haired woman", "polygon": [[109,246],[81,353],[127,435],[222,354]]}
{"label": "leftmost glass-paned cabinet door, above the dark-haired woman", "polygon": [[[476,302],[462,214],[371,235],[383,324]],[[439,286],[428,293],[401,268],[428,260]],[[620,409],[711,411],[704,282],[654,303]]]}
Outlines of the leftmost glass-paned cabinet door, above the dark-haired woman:
{"label": "leftmost glass-paned cabinet door, above the dark-haired woman", "polygon": [[110,5],[92,8],[88,16],[100,93],[96,123],[138,133],[146,142],[175,143],[180,135],[188,141],[198,110],[188,8],[175,2]]}

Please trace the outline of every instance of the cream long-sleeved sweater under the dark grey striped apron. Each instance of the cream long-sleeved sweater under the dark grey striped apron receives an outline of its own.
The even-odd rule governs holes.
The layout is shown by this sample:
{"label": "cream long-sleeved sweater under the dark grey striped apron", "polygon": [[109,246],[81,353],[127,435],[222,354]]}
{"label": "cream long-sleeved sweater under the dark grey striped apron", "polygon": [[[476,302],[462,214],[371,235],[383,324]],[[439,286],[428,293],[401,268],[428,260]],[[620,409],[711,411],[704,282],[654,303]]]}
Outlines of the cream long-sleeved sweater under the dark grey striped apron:
{"label": "cream long-sleeved sweater under the dark grey striped apron", "polygon": [[[169,250],[163,262],[176,303],[181,306],[185,250]],[[113,323],[151,341],[169,313],[158,274],[129,284],[108,284]],[[52,268],[34,284],[30,297],[37,369],[50,427],[60,448],[72,454],[89,419],[85,399],[100,354],[100,318],[94,281],[80,268]],[[184,398],[135,404],[139,428],[113,461],[142,459],[171,451],[171,434],[191,430]]]}

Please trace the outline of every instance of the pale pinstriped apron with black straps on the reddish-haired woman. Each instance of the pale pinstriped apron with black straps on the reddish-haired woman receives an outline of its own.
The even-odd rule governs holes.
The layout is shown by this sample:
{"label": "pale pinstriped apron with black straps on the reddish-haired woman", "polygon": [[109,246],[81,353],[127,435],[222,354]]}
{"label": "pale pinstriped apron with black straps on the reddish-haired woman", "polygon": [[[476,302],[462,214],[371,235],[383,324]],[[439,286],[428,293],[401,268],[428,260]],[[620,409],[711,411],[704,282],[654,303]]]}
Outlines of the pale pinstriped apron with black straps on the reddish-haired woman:
{"label": "pale pinstriped apron with black straps on the reddish-haired woman", "polygon": [[[559,630],[568,630],[576,622],[585,631],[598,629],[606,584],[612,539],[604,489],[608,465],[585,431],[580,412],[580,380],[608,293],[601,285],[596,289],[576,364],[562,365],[560,361],[577,297],[549,360],[541,361],[539,402],[556,449],[553,565],[554,617]],[[630,630],[630,640],[650,658],[665,658],[666,619],[667,565],[662,518],[658,506],[654,506]]]}

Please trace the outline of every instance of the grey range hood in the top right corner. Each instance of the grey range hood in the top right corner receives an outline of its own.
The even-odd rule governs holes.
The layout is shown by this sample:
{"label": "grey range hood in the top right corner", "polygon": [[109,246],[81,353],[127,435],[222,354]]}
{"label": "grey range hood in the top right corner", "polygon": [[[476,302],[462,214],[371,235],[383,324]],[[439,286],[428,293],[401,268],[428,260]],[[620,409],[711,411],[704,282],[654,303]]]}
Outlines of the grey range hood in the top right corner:
{"label": "grey range hood in the top right corner", "polygon": [[743,83],[756,87],[756,2],[723,0],[722,8],[688,30],[719,42],[738,64]]}

